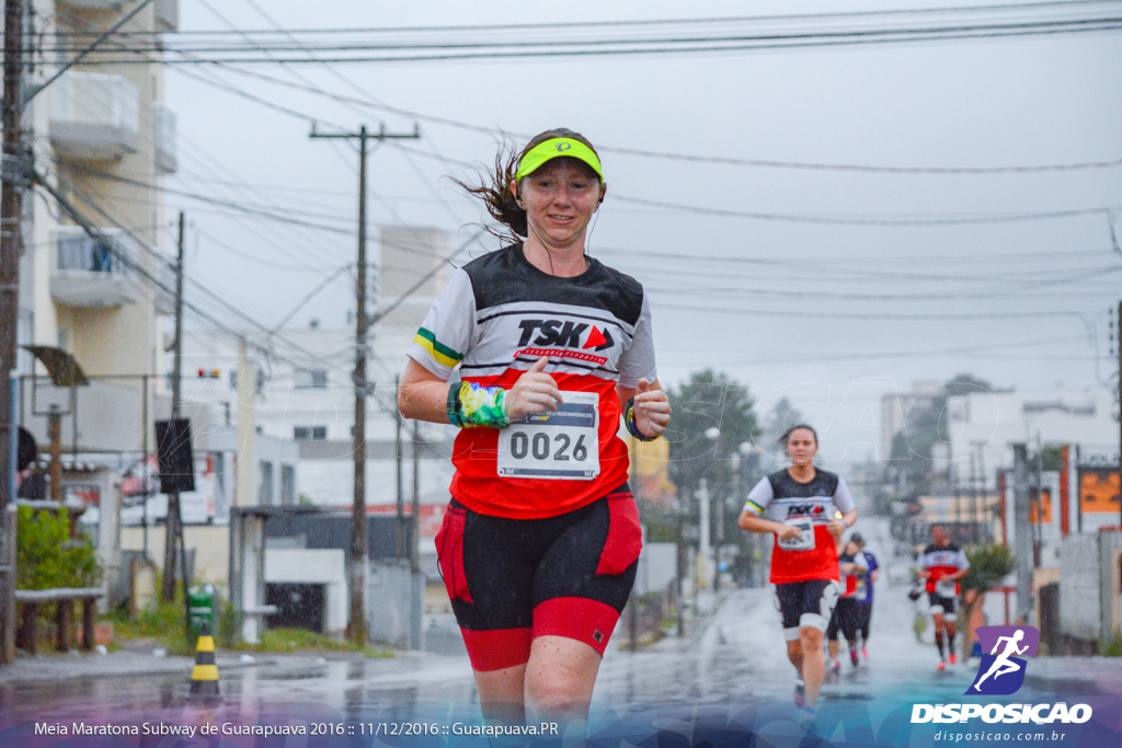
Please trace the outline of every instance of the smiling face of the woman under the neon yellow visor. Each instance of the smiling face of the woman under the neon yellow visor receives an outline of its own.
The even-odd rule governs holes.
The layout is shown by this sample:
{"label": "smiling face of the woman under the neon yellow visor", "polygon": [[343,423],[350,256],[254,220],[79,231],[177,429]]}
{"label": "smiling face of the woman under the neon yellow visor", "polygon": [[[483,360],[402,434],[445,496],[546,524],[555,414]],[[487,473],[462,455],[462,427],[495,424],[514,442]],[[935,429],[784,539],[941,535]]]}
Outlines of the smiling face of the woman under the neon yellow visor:
{"label": "smiling face of the woman under the neon yellow visor", "polygon": [[522,179],[518,195],[531,236],[550,249],[583,248],[585,230],[600,204],[600,181],[573,158],[554,158]]}

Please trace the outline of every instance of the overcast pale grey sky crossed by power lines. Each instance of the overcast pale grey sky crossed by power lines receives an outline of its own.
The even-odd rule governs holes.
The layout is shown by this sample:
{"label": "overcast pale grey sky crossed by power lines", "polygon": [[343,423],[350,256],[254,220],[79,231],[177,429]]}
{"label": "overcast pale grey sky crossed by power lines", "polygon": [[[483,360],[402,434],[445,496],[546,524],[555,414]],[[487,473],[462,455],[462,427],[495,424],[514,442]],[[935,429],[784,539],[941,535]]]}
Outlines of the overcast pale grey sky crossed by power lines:
{"label": "overcast pale grey sky crossed by power lines", "polygon": [[[705,27],[753,34],[1122,16],[1120,2],[844,19],[819,15],[938,6],[256,2],[282,26],[300,29],[788,17]],[[250,0],[187,0],[181,30],[227,28],[214,10],[241,29],[272,28]],[[790,18],[800,15],[808,18]],[[246,41],[231,39],[238,40]],[[1111,230],[1113,211],[1122,236],[1120,30],[232,67],[169,66],[166,101],[178,113],[181,141],[180,172],[167,186],[268,206],[338,232],[231,218],[174,194],[167,205],[169,215],[186,210],[195,229],[193,276],[267,324],[353,261],[357,155],[340,141],[310,140],[309,118],[323,130],[385,123],[406,132],[420,124],[421,140],[402,141],[410,151],[387,144],[371,156],[370,221],[439,227],[452,234],[453,247],[470,236],[481,211],[448,177],[469,175],[462,163],[490,164],[498,129],[522,140],[565,126],[601,149],[608,197],[590,251],[649,289],[664,385],[712,367],[749,385],[765,406],[785,395],[819,426],[822,455],[846,461],[875,455],[881,395],[916,379],[971,372],[1023,391],[1059,381],[1110,387],[1107,311],[1122,295],[1122,253]],[[617,149],[877,168],[715,164]],[[993,170],[1104,161],[1114,165]],[[939,170],[948,168],[965,173]],[[1039,215],[1055,213],[1069,214]],[[1017,220],[981,220],[994,216]],[[962,220],[974,222],[948,222]],[[313,316],[344,324],[351,283],[339,275],[294,324]]]}

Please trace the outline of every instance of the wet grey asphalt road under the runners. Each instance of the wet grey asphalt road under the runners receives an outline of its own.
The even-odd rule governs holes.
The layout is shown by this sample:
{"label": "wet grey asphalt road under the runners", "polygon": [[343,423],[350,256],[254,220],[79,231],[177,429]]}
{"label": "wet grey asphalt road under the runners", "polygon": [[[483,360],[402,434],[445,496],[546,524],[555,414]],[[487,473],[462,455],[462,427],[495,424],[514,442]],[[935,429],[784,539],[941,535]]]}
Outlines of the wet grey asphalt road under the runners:
{"label": "wet grey asphalt road under the runners", "polygon": [[[873,539],[881,535],[870,534]],[[925,641],[913,630],[916,608],[907,599],[908,587],[890,583],[890,578],[899,576],[899,571],[891,573],[891,566],[907,567],[908,560],[893,560],[888,545],[883,551],[870,545],[884,566],[876,585],[870,658],[854,667],[843,644],[842,669],[827,675],[822,703],[960,701],[975,675],[976,661],[936,671],[930,630]],[[594,704],[615,710],[659,703],[789,704],[793,668],[787,662],[771,590],[742,589],[710,600],[716,604],[700,621],[703,626],[683,638],[666,638],[638,653],[609,648]],[[191,663],[183,658],[168,664],[172,672],[163,674],[132,672],[126,665],[105,675],[76,674],[39,683],[0,681],[0,708],[13,722],[79,714],[110,719],[180,709],[187,703]],[[343,715],[376,712],[410,718],[447,711],[448,704],[471,710],[477,702],[465,655],[288,656],[229,667],[220,659],[219,669],[219,709],[243,715],[284,710],[288,704],[294,712],[306,708]],[[1063,663],[1054,663],[1052,669],[1064,672]],[[1047,690],[1047,684],[1038,691],[1041,687]]]}

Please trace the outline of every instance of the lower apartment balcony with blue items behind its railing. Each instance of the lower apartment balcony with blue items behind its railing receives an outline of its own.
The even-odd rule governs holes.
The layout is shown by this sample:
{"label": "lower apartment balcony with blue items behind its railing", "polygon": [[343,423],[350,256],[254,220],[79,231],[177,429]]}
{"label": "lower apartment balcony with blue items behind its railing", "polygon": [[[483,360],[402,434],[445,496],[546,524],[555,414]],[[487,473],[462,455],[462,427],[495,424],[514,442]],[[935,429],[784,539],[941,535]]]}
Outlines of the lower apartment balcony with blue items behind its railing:
{"label": "lower apartment balcony with blue items behind its railing", "polygon": [[81,227],[55,227],[50,296],[57,303],[96,308],[140,298],[140,284],[131,269],[137,262],[136,243],[120,229],[100,231],[108,241],[92,239]]}

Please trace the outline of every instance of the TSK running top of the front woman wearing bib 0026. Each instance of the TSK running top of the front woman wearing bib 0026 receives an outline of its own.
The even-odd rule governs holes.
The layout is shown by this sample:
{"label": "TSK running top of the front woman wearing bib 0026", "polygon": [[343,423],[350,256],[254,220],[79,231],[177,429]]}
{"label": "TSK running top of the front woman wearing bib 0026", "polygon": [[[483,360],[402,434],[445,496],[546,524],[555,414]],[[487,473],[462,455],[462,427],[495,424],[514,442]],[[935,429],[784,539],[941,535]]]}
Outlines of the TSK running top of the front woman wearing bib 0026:
{"label": "TSK running top of the front woman wearing bib 0026", "polygon": [[451,493],[473,511],[551,517],[627,480],[615,388],[655,379],[651,311],[637,280],[588,262],[559,278],[521,243],[484,255],[456,271],[417,331],[410,358],[442,379],[459,366],[465,381],[509,389],[544,355],[562,393],[550,416],[460,431]]}

